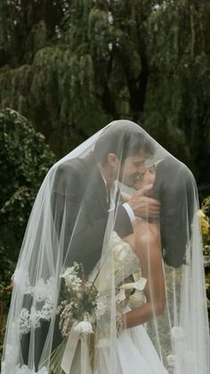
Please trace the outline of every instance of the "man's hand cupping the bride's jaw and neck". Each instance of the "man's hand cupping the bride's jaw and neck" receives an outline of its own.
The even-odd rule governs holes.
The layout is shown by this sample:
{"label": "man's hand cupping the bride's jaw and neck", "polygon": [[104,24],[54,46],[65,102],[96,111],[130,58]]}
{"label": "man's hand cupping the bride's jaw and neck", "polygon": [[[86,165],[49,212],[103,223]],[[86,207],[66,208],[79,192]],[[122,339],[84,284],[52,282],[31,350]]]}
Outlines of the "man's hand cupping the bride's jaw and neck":
{"label": "man's hand cupping the bride's jaw and neck", "polygon": [[140,188],[127,202],[136,217],[158,219],[160,202],[149,197],[149,190],[152,185]]}

